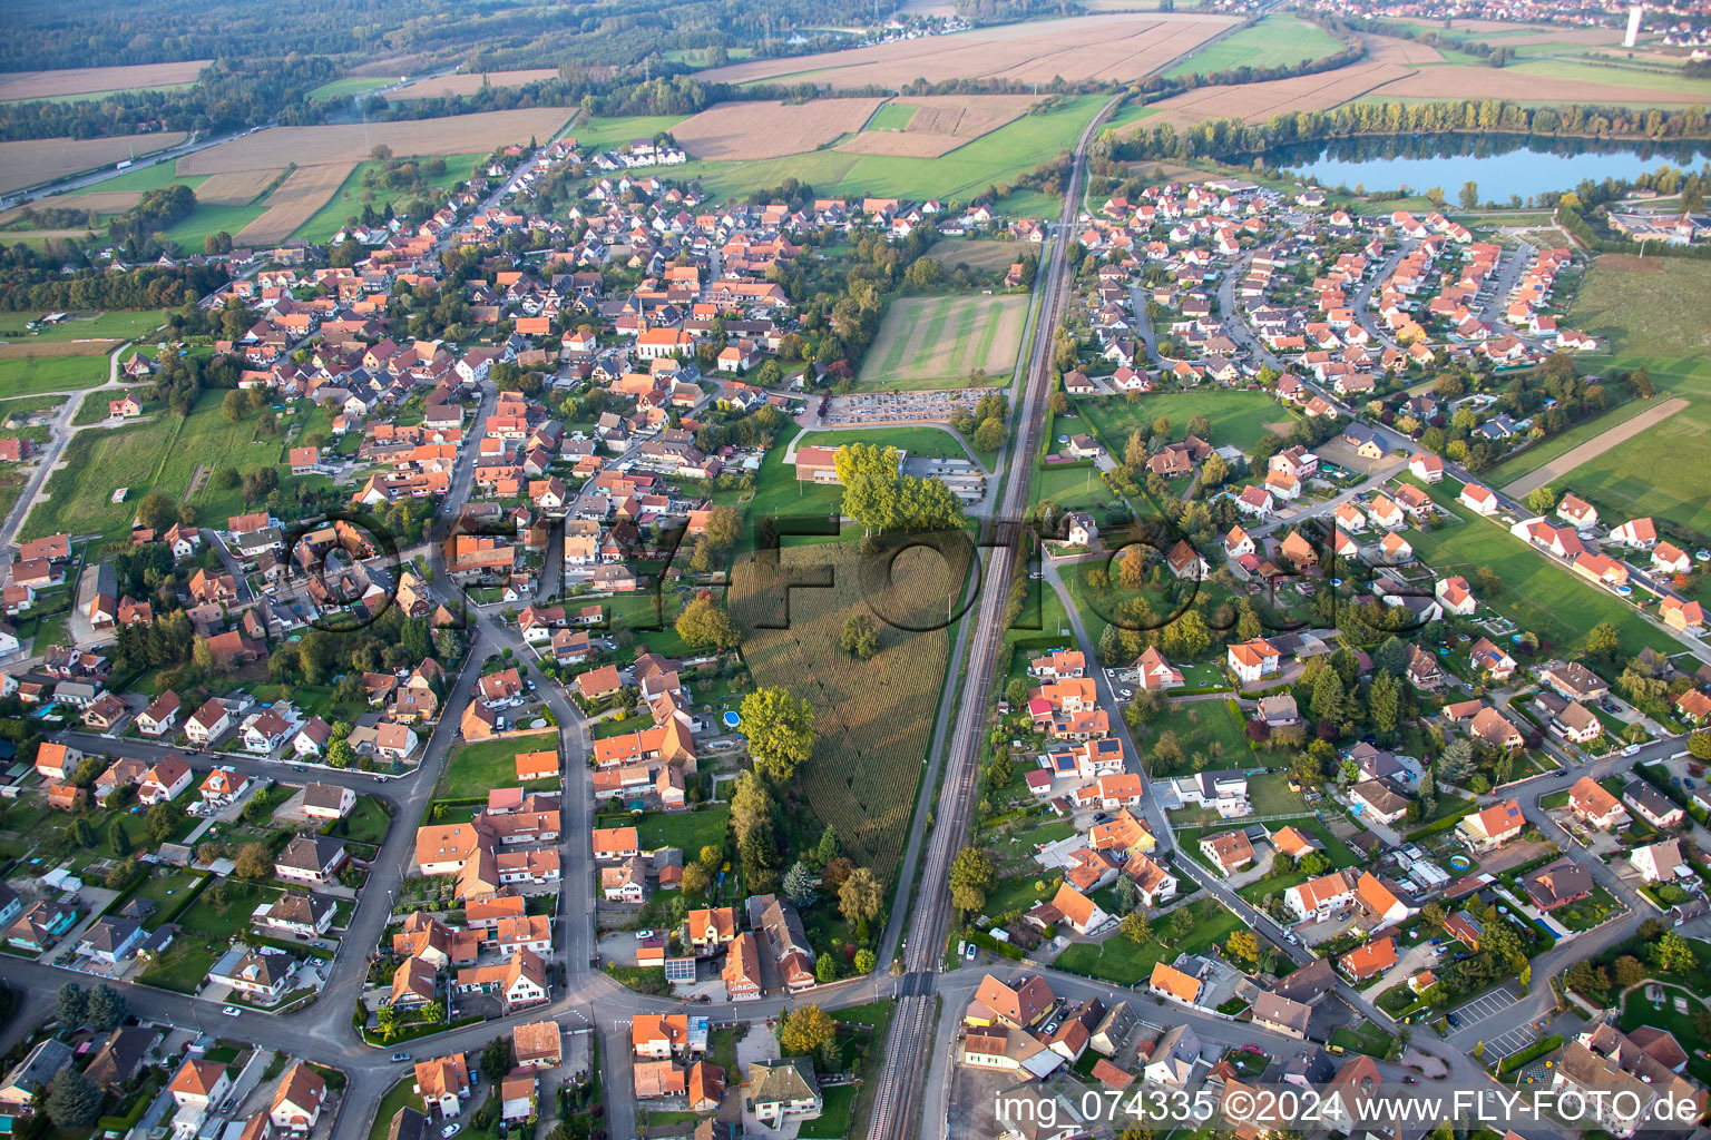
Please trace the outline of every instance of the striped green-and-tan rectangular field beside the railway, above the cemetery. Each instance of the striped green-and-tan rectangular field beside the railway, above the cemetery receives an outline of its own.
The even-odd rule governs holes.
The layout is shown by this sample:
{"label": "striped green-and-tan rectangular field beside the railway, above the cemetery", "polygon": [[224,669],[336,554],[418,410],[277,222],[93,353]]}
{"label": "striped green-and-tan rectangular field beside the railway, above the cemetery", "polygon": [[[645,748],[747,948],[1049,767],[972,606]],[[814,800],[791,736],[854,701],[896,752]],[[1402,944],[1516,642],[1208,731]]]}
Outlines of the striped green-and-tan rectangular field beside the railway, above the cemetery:
{"label": "striped green-and-tan rectangular field beside the railway, above the cemetery", "polygon": [[963,385],[984,367],[1006,383],[1021,347],[1028,297],[903,297],[886,309],[879,335],[862,359],[862,388],[943,388]]}

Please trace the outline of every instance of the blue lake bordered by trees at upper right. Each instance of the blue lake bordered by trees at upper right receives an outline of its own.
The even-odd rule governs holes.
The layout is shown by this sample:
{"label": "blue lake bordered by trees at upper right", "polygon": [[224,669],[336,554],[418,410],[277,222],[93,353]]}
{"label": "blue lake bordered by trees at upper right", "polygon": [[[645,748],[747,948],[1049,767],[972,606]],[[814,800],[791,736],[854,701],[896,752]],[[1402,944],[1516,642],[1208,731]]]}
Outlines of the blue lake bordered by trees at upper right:
{"label": "blue lake bordered by trees at upper right", "polygon": [[1480,202],[1523,202],[1581,181],[1631,179],[1660,166],[1692,167],[1711,156],[1702,142],[1625,144],[1526,135],[1408,135],[1333,138],[1276,147],[1268,164],[1316,178],[1326,186],[1367,190],[1442,188],[1454,202],[1473,181]]}

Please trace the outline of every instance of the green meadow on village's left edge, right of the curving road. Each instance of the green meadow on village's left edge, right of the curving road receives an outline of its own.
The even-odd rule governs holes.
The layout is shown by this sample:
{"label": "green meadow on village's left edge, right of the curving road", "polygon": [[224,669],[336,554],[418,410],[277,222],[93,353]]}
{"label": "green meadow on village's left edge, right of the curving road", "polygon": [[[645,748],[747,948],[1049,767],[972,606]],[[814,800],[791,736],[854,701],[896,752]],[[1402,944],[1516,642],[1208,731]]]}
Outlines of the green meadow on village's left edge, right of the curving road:
{"label": "green meadow on village's left edge, right of the curving road", "polygon": [[[286,482],[289,468],[281,465],[284,432],[275,439],[262,439],[255,419],[228,422],[221,414],[224,395],[219,390],[202,393],[183,420],[176,415],[156,417],[133,427],[74,436],[65,446],[65,465],[48,477],[48,499],[31,509],[21,537],[39,538],[67,530],[118,538],[130,530],[137,499],[151,491],[183,499],[198,465],[229,465],[240,472],[275,467],[281,468],[281,482]],[[281,427],[289,424],[291,420],[284,420]],[[130,489],[125,502],[111,501],[116,487]],[[236,487],[214,491],[205,485],[192,501],[209,518],[226,518],[245,506],[243,491]]]}

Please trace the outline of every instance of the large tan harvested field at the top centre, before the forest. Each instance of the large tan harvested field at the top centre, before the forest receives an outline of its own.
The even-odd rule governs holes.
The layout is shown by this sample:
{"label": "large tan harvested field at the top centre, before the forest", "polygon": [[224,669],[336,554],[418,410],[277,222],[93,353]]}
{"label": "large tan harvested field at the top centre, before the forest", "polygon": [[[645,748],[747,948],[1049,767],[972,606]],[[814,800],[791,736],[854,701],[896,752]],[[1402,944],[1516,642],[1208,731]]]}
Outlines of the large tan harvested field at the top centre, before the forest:
{"label": "large tan harvested field at the top centre, before the forest", "polygon": [[707,82],[746,84],[785,75],[832,87],[902,87],[915,79],[1129,80],[1148,75],[1225,27],[1232,15],[1109,14],[977,27],[953,36],[784,60],[751,60],[702,72]]}

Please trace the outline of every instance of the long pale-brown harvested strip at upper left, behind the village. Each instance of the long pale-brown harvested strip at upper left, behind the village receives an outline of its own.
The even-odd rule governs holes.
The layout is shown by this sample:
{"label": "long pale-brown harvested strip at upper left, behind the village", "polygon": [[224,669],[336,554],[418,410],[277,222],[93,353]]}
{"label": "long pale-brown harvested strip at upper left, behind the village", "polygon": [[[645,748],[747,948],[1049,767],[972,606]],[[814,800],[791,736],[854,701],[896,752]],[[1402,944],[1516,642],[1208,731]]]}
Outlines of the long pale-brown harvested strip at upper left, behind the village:
{"label": "long pale-brown harvested strip at upper left, behind the village", "polygon": [[[361,123],[339,126],[272,126],[255,135],[222,142],[209,150],[186,154],[178,173],[229,174],[234,171],[281,171],[286,162],[301,166],[342,166],[361,162],[385,144],[397,156],[486,152],[529,138],[548,140],[571,116],[571,108],[530,108],[525,111],[483,111],[399,123]],[[151,135],[156,137],[156,135]],[[103,140],[111,142],[111,140]],[[36,144],[0,144],[5,147]]]}

